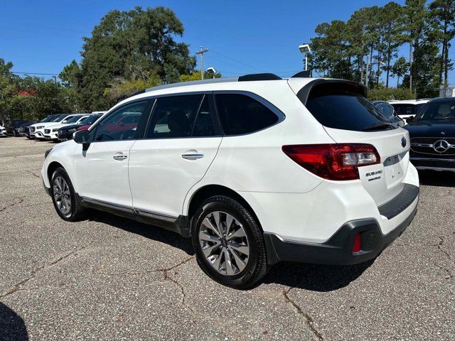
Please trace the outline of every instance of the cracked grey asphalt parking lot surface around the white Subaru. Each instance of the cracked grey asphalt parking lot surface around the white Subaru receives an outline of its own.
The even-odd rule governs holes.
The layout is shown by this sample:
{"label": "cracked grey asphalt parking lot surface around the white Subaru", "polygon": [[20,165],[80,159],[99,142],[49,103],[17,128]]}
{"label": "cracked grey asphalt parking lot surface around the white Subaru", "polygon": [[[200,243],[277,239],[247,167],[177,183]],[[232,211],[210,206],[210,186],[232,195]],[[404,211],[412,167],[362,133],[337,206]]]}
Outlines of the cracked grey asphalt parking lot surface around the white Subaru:
{"label": "cracked grey asphalt parking lot surface around the white Subaru", "polygon": [[414,221],[375,261],[278,264],[235,291],[177,234],[60,220],[40,174],[52,146],[0,139],[0,340],[455,339],[453,174],[420,174]]}

